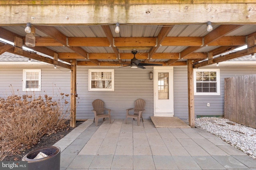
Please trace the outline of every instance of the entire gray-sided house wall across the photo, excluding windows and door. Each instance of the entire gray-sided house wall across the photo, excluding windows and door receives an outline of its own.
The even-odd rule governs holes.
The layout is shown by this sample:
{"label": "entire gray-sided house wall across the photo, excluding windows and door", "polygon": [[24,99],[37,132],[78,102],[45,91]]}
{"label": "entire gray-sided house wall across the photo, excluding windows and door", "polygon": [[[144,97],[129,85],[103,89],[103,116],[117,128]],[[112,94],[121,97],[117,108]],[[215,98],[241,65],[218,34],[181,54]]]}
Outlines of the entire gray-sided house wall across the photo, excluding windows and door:
{"label": "entire gray-sided house wall across the photo, excluding windows and door", "polygon": [[[40,66],[0,66],[0,97],[12,94],[26,94],[22,92],[23,69],[42,70],[42,91],[35,92],[36,96],[48,94],[56,99],[60,93],[70,94],[70,72],[65,68],[54,69],[52,65]],[[113,91],[88,91],[89,69],[114,69],[115,89]],[[216,68],[216,66],[206,67]],[[255,66],[219,66],[220,69],[220,96],[194,96],[196,115],[224,115],[224,78],[256,74]],[[153,67],[146,69],[116,68],[116,67],[86,67],[77,68],[77,107],[76,119],[93,119],[91,112],[92,101],[101,99],[105,107],[112,109],[113,119],[124,119],[126,109],[134,107],[134,101],[142,98],[146,101],[144,119],[153,116],[153,80],[149,80],[149,72]],[[187,67],[174,67],[174,116],[188,119],[188,83]],[[10,88],[12,84],[12,88]],[[69,97],[66,98],[68,101]],[[210,107],[206,104],[210,103]]]}

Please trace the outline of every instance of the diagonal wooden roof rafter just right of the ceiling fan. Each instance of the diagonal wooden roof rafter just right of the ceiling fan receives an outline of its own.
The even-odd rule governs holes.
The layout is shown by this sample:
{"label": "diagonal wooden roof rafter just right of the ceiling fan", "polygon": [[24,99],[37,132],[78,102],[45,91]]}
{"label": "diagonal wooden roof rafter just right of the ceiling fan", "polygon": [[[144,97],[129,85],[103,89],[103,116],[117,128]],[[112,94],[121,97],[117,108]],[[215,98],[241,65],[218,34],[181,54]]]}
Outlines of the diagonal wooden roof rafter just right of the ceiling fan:
{"label": "diagonal wooden roof rafter just right of the ceiling fan", "polygon": [[157,45],[153,47],[150,52],[148,53],[148,59],[145,60],[145,63],[148,63],[151,57],[154,55],[156,50],[159,48],[160,44],[164,40],[164,38],[168,35],[168,33],[172,30],[173,27],[162,27],[161,31],[157,36]]}

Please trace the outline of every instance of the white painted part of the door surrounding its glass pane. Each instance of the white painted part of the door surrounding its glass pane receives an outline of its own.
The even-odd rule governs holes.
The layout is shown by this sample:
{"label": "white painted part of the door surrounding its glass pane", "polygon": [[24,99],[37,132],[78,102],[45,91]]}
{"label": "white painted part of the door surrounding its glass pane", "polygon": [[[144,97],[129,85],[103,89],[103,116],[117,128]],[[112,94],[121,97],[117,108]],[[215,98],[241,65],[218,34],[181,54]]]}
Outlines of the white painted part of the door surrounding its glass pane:
{"label": "white painted part of the door surrounding its glass pane", "polygon": [[[161,101],[158,100],[158,72],[159,71],[169,72],[169,99],[168,100],[161,100]],[[161,111],[161,108],[163,108],[162,111]],[[154,67],[154,116],[166,116],[166,117],[174,116],[173,67],[172,66]]]}

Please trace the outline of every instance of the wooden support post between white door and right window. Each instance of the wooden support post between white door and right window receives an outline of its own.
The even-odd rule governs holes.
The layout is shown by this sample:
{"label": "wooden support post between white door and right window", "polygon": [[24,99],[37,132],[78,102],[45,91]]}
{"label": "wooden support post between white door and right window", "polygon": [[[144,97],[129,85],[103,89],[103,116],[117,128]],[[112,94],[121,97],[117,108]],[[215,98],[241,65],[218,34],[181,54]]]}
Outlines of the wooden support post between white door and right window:
{"label": "wooden support post between white door and right window", "polygon": [[195,127],[193,60],[188,59],[188,125]]}

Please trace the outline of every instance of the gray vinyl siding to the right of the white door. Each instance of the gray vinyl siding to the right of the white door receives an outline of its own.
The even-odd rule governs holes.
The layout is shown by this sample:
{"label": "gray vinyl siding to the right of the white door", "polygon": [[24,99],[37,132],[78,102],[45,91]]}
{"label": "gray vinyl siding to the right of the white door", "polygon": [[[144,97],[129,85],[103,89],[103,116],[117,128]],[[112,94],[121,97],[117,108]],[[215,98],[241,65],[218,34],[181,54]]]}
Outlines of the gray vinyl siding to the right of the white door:
{"label": "gray vinyl siding to the right of the white door", "polygon": [[[216,68],[214,67],[204,67]],[[256,74],[255,66],[220,66],[220,96],[194,96],[197,115],[224,115],[224,78]],[[188,119],[187,67],[174,67],[174,116]],[[210,103],[210,107],[207,107]]]}

